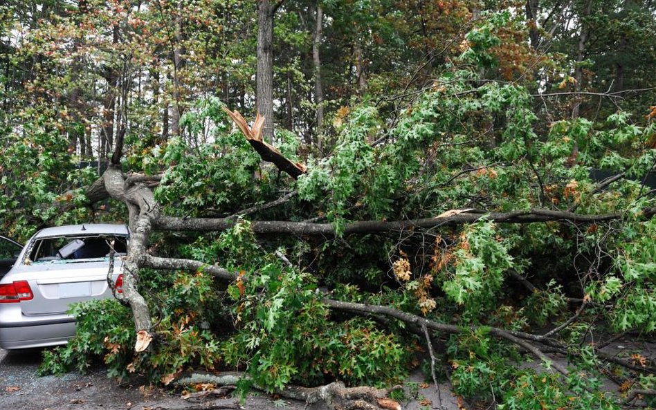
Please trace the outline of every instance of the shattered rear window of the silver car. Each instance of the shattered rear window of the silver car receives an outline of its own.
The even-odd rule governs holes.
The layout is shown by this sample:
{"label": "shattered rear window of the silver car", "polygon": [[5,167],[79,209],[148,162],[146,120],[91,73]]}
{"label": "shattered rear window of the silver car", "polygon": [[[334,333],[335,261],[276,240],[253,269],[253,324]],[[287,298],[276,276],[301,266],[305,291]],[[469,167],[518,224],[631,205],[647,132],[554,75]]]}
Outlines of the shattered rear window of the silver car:
{"label": "shattered rear window of the silver car", "polygon": [[37,239],[29,250],[26,265],[39,263],[75,263],[80,261],[102,260],[114,252],[127,252],[127,236],[57,236]]}

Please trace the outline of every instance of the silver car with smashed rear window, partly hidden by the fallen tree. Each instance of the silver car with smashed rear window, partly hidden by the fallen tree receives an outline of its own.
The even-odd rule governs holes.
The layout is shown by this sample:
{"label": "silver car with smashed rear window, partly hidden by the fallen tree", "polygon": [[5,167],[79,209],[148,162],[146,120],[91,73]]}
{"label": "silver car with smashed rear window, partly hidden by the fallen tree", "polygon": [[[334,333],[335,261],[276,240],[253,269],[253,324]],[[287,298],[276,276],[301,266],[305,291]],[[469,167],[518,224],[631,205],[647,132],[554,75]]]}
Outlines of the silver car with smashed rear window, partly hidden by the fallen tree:
{"label": "silver car with smashed rear window, partly hidden by the fallen tree", "polygon": [[[66,344],[75,335],[69,305],[112,297],[107,283],[109,252],[127,252],[125,225],[50,227],[35,234],[0,279],[0,347]],[[120,258],[112,281],[120,292]]]}

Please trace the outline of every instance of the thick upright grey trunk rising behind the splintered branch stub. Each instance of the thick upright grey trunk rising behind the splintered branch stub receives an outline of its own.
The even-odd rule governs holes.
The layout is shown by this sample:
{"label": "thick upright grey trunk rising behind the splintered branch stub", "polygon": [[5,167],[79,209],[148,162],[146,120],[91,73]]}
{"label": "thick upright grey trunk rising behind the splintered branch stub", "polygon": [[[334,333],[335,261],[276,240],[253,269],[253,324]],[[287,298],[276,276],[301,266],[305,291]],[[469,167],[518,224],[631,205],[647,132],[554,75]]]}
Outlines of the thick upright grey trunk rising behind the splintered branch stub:
{"label": "thick upright grey trunk rising behind the splintered branch stub", "polygon": [[273,14],[271,0],[257,3],[257,111],[264,116],[264,140],[273,142]]}

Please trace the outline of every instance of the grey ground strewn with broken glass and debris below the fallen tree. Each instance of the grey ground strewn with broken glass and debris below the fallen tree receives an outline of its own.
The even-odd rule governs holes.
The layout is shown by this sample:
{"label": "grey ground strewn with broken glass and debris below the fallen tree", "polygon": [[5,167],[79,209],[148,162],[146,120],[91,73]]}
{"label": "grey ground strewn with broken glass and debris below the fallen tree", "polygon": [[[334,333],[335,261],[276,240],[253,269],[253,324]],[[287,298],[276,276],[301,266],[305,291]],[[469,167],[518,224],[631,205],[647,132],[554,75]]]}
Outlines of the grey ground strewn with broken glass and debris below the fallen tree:
{"label": "grey ground strewn with broken glass and debris below the fallen tree", "polygon": [[[0,349],[0,410],[149,410],[188,407],[179,394],[162,389],[148,389],[134,385],[119,385],[110,380],[102,366],[91,369],[86,375],[68,373],[64,376],[39,377],[37,368],[41,351],[4,351]],[[409,381],[423,382],[421,375],[414,374]],[[440,386],[442,407],[458,409],[447,384]],[[439,409],[435,386],[420,387],[417,400],[402,403],[403,409]],[[235,400],[193,403],[198,409],[211,408],[212,404],[235,407]],[[273,400],[270,395],[253,394],[240,404],[247,410],[326,410],[324,404],[306,406],[294,400]]]}

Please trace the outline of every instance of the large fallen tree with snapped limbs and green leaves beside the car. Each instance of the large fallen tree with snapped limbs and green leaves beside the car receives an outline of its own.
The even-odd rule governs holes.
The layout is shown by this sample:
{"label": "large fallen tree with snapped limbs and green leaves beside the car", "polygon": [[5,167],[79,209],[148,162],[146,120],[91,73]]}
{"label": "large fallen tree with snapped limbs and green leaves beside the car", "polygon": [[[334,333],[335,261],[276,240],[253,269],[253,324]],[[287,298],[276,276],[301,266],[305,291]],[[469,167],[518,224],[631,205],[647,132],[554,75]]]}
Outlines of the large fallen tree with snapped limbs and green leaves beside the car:
{"label": "large fallen tree with snapped limbs and green leaves beside the car", "polygon": [[[245,386],[240,389],[257,386],[270,393],[277,392],[306,402],[323,400],[334,409],[371,410],[392,403],[383,400],[383,395],[389,391],[365,386],[350,387],[334,381],[341,378],[351,384],[361,384],[365,380],[376,383],[398,381],[402,374],[401,363],[409,360],[411,349],[408,346],[411,344],[408,340],[428,348],[430,371],[435,382],[437,373],[447,371],[457,393],[473,398],[481,394],[480,389],[487,389],[475,380],[485,380],[485,377],[492,377],[489,376],[491,374],[501,377],[504,371],[494,370],[495,362],[498,366],[510,366],[504,356],[518,353],[536,357],[549,370],[540,375],[518,369],[513,373],[513,380],[526,378],[547,383],[549,389],[565,389],[559,393],[563,397],[576,393],[580,396],[576,400],[587,403],[581,405],[592,405],[590,403],[596,400],[598,387],[581,382],[581,373],[572,371],[577,369],[576,362],[590,362],[593,360],[590,357],[594,357],[599,369],[612,364],[643,375],[654,373],[655,366],[647,357],[615,357],[596,348],[594,342],[586,340],[585,333],[581,333],[585,328],[582,326],[595,326],[599,317],[604,317],[610,328],[616,326],[621,330],[653,331],[653,318],[630,315],[640,308],[640,303],[644,303],[644,295],[650,295],[653,291],[650,281],[622,281],[616,271],[626,272],[629,267],[633,273],[623,273],[625,278],[630,275],[641,277],[650,267],[644,255],[639,255],[644,248],[623,248],[630,242],[626,241],[628,236],[620,234],[623,226],[628,225],[631,229],[644,232],[651,232],[652,229],[655,214],[653,201],[649,196],[644,196],[644,189],[636,187],[635,183],[624,181],[626,185],[621,186],[628,189],[630,195],[621,198],[608,191],[610,185],[623,183],[621,177],[602,181],[599,185],[588,183],[585,187],[579,186],[576,180],[557,178],[547,185],[543,178],[533,175],[534,167],[524,164],[526,169],[531,169],[533,174],[529,175],[533,176],[522,183],[522,192],[533,197],[513,209],[511,203],[493,203],[506,201],[504,198],[509,197],[508,192],[515,184],[513,178],[518,178],[515,170],[506,171],[495,165],[497,162],[480,167],[466,165],[466,171],[455,169],[450,174],[434,176],[426,168],[430,167],[431,156],[437,154],[429,150],[428,156],[423,158],[425,162],[418,162],[417,157],[421,155],[418,147],[412,145],[415,142],[410,142],[410,147],[402,147],[405,151],[399,151],[399,145],[403,142],[397,136],[396,142],[381,145],[376,153],[370,145],[359,145],[361,152],[352,156],[354,151],[345,145],[343,151],[339,151],[338,147],[338,152],[331,158],[345,155],[353,162],[362,157],[368,163],[367,158],[370,160],[379,155],[385,166],[398,168],[381,171],[381,174],[397,172],[394,178],[403,178],[397,181],[387,175],[381,182],[376,173],[370,174],[371,169],[356,167],[356,174],[350,174],[345,179],[340,176],[340,172],[344,171],[340,168],[342,162],[336,160],[305,167],[300,162],[288,160],[282,151],[258,139],[257,127],[261,126],[262,120],[256,120],[253,131],[237,113],[230,111],[230,116],[239,122],[239,129],[248,144],[257,150],[262,159],[273,162],[275,168],[270,170],[272,176],[277,171],[284,171],[293,178],[287,182],[280,180],[279,172],[275,178],[259,177],[260,184],[280,187],[275,192],[271,190],[268,200],[247,204],[235,202],[230,212],[216,218],[198,216],[202,214],[200,209],[172,207],[169,192],[176,192],[176,178],[185,169],[185,158],[181,156],[176,161],[182,163],[176,162],[156,176],[124,174],[120,156],[114,156],[115,162],[102,176],[104,189],[98,182],[90,187],[89,193],[95,194],[89,195],[89,201],[102,201],[106,193],[114,201],[125,205],[131,230],[129,250],[123,260],[122,299],[131,308],[134,333],[129,337],[125,333],[121,333],[122,336],[118,333],[108,335],[101,342],[110,351],[107,357],[112,358],[111,363],[120,363],[113,364],[119,374],[145,371],[152,378],[168,384],[179,378],[191,362],[201,362],[212,369],[215,361],[225,360],[228,366],[243,369],[248,375],[241,379]],[[345,141],[348,142],[347,138]],[[399,158],[400,153],[406,151],[410,155]],[[221,152],[215,160],[224,160],[229,155],[229,152]],[[414,164],[412,174],[403,174],[406,163]],[[520,164],[521,161],[512,167],[520,167]],[[247,171],[253,172],[252,169]],[[485,196],[475,187],[477,183],[493,187],[497,179],[502,178],[499,176],[501,172],[508,173],[504,178],[508,178],[509,185],[503,185],[499,192]],[[567,170],[561,169],[561,172]],[[576,172],[583,175],[580,171]],[[368,179],[358,185],[352,178]],[[444,190],[440,191],[442,194],[453,196],[448,206],[419,207],[411,214],[403,210],[405,207],[412,208],[410,205],[433,201],[430,199],[435,195],[432,185],[419,184],[421,178],[437,178],[432,184]],[[403,181],[408,181],[413,185],[412,189],[417,189],[412,198],[396,196]],[[383,185],[381,190],[374,192],[374,187],[381,183],[391,184],[394,189]],[[473,187],[466,196],[462,196],[463,186]],[[358,193],[356,188],[363,189],[363,192]],[[340,192],[340,189],[346,191]],[[385,197],[388,191],[392,192],[392,196]],[[462,198],[456,201],[459,196]],[[609,198],[626,206],[599,205],[610,201]],[[631,206],[621,202],[624,199],[632,201]],[[547,200],[553,206],[546,207]],[[392,209],[394,212],[385,213],[388,204],[394,201],[399,203],[394,209],[400,209],[400,212]],[[560,201],[563,205],[556,206]],[[289,209],[298,211],[303,208],[309,209],[309,212],[289,212]],[[280,214],[293,217],[266,217]],[[382,214],[403,217],[381,217]],[[204,253],[196,248],[161,252],[159,247],[165,243],[152,241],[157,232],[189,232],[191,238],[206,233],[209,242],[192,239],[194,247]],[[364,238],[379,243],[379,246],[389,239],[395,241],[388,248],[387,260],[383,261],[388,267],[387,272],[383,272],[378,282],[374,282],[381,289],[385,288],[384,292],[356,295],[354,288],[349,288],[348,284],[344,287],[337,283],[331,272],[309,268],[311,262],[303,262],[304,259],[331,257],[337,259],[333,265],[337,268],[340,255],[361,252],[354,248],[362,247]],[[352,241],[352,244],[347,241]],[[583,268],[574,267],[579,280],[578,289],[566,294],[563,284],[544,279],[549,275],[540,266],[534,265],[536,272],[540,272],[536,275],[542,276],[538,279],[539,286],[520,273],[529,265],[522,259],[540,258],[535,256],[543,251],[540,241],[549,242],[550,252],[575,252],[585,259]],[[298,243],[304,244],[307,249],[293,261],[289,252],[296,252]],[[346,250],[340,249],[342,243]],[[617,246],[620,248],[611,249]],[[376,252],[376,249],[372,247],[366,252]],[[610,252],[614,252],[612,257]],[[211,257],[208,259],[207,255]],[[619,257],[625,258],[623,263],[612,262],[613,258]],[[552,262],[554,265],[561,263]],[[358,264],[367,266],[369,270],[358,272],[368,274],[381,265],[381,259],[374,259],[370,264],[364,259],[351,260],[351,263],[353,267]],[[198,295],[194,293],[196,305],[182,305],[182,301],[172,295],[152,295],[149,283],[143,279],[152,270],[176,272],[176,279],[167,279],[170,289],[183,286],[184,292],[198,292]],[[208,283],[211,281],[208,282],[207,277],[220,279],[219,283],[222,284],[212,285],[220,290],[201,293],[201,290],[207,292],[210,289]],[[363,282],[356,275],[347,278]],[[502,301],[504,287],[511,289],[506,278],[514,278],[525,286],[523,293],[520,292],[525,301],[515,300],[510,304]],[[565,276],[559,276],[558,280],[565,284],[575,282]],[[323,284],[329,285],[339,297],[329,297],[319,292],[318,287]],[[215,307],[218,304],[217,294],[223,295],[222,300],[229,301],[223,308]],[[154,297],[174,301],[165,299],[164,306],[159,306]],[[622,300],[633,305],[620,303]],[[214,301],[214,307],[210,307],[208,301]],[[573,315],[567,302],[578,304]],[[651,307],[643,308],[648,310]],[[212,310],[220,311],[222,319],[217,318]],[[459,320],[450,323],[445,320],[444,313]],[[542,334],[529,331],[529,324],[545,326],[552,317],[563,319],[554,322],[550,330]],[[225,325],[226,320],[234,326],[231,331],[235,334],[221,342],[218,349],[218,342],[212,341],[215,336],[210,335],[208,330],[212,326],[219,328],[212,321],[223,321],[221,323]],[[83,327],[84,324],[78,326]],[[293,342],[286,341],[287,336]],[[360,342],[354,344],[354,339]],[[443,348],[435,348],[436,339]],[[201,340],[210,342],[203,344]],[[408,346],[401,347],[402,340]],[[128,341],[134,348],[127,348]],[[180,347],[178,354],[188,357],[179,364],[163,364],[162,357],[171,357],[172,349],[178,348],[177,344],[186,346]],[[444,345],[448,346],[446,351]],[[384,349],[381,346],[385,346]],[[75,342],[71,348],[75,348]],[[348,356],[349,349],[358,348],[363,351],[357,358]],[[397,358],[385,359],[381,351],[387,355],[388,350]],[[193,354],[188,354],[190,351]],[[568,368],[554,360],[550,356],[554,354],[566,356],[570,366],[574,367]],[[318,356],[313,359],[311,355]],[[344,363],[337,360],[331,362],[331,355],[346,355]],[[320,359],[319,356],[327,358]],[[109,360],[107,357],[105,360]],[[119,360],[119,357],[122,358]],[[438,359],[442,360],[441,365],[436,365],[440,362]],[[154,364],[156,362],[159,364]],[[466,362],[470,364],[465,365]],[[369,373],[361,370],[367,366],[373,369]],[[448,368],[453,369],[449,371]],[[591,371],[590,368],[586,369]],[[482,373],[467,376],[474,372]],[[317,386],[290,387],[295,380]],[[581,384],[580,390],[570,391],[561,387],[575,382]],[[502,390],[501,385],[491,386],[493,396],[497,393],[513,394],[512,389]],[[604,406],[614,405],[608,395],[602,395],[601,400]],[[224,405],[229,407],[232,404],[217,404]]]}

